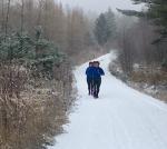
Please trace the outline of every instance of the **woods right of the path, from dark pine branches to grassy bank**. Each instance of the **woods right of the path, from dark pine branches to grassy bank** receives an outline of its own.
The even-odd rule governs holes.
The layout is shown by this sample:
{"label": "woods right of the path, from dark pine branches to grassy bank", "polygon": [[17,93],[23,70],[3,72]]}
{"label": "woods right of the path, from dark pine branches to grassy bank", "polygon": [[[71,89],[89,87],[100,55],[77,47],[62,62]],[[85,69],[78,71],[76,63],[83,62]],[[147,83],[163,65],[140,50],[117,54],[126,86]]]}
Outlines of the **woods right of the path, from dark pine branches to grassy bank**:
{"label": "woods right of the path, from dark pine branches to grassy bank", "polygon": [[[127,19],[118,31],[118,60],[111,63],[110,70],[130,87],[167,101],[167,2],[132,2],[145,3],[145,8],[141,11],[117,9]],[[135,21],[129,23],[129,18]]]}

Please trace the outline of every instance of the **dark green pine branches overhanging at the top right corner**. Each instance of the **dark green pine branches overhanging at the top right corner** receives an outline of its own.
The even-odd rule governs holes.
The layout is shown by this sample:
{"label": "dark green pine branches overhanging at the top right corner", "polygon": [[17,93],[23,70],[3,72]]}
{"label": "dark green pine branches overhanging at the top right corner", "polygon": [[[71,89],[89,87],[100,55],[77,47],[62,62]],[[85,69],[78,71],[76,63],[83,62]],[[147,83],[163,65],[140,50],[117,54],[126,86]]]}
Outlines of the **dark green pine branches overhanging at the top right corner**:
{"label": "dark green pine branches overhanging at the top right corner", "polygon": [[146,3],[148,7],[147,11],[135,11],[135,10],[120,10],[118,11],[127,16],[137,16],[150,19],[159,28],[160,38],[154,43],[161,41],[167,38],[167,1],[166,0],[132,0],[135,4]]}

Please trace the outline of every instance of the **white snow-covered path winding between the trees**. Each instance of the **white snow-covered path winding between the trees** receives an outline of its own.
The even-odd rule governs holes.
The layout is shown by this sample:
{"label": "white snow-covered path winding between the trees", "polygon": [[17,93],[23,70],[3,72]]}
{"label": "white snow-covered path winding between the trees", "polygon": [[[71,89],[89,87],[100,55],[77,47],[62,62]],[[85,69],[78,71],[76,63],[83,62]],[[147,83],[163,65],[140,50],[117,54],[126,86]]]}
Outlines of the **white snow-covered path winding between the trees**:
{"label": "white snow-covered path winding between the trees", "polygon": [[167,149],[167,105],[114,78],[110,59],[114,52],[98,59],[106,71],[99,99],[87,95],[88,63],[77,68],[77,109],[65,127],[67,133],[48,149]]}

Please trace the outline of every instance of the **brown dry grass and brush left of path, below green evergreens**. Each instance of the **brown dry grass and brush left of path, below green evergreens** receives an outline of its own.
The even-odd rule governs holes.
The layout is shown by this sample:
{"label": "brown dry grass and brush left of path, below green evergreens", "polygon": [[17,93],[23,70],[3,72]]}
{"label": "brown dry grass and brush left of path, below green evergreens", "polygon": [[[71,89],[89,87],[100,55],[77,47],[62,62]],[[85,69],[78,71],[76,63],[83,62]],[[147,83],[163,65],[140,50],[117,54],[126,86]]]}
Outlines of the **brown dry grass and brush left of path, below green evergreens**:
{"label": "brown dry grass and brush left of path, below green evergreens", "polygon": [[1,69],[0,149],[41,149],[63,132],[73,100],[72,78],[69,66],[59,70],[58,78],[48,80],[31,78],[27,70]]}

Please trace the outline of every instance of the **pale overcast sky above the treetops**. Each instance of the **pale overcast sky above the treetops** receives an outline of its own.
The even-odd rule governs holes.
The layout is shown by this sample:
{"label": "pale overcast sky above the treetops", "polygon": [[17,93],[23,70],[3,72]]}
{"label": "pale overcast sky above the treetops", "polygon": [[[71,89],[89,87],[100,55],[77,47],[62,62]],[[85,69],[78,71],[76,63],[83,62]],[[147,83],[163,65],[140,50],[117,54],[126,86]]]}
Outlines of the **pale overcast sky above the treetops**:
{"label": "pale overcast sky above the treetops", "polygon": [[86,11],[95,11],[102,12],[107,10],[109,7],[115,10],[119,9],[141,9],[140,6],[134,6],[131,0],[56,0],[61,1],[63,4],[68,4],[70,7],[80,7]]}

